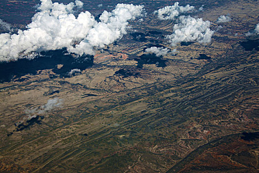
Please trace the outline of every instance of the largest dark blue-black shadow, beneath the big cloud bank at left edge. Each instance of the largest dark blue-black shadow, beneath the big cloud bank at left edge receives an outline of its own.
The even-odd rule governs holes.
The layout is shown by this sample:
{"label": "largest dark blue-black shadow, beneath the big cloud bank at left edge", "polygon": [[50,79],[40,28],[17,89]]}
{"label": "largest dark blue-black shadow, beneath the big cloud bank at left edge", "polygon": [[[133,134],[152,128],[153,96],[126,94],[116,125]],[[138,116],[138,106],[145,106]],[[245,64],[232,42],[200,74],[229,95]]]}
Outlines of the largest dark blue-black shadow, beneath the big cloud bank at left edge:
{"label": "largest dark blue-black shadow, beneath the big cloud bank at left edge", "polygon": [[[60,76],[68,76],[72,69],[85,70],[93,65],[92,55],[83,55],[75,58],[65,49],[43,51],[34,59],[19,59],[14,62],[0,63],[0,83],[19,79],[27,74],[36,75],[38,70],[53,69]],[[57,65],[63,64],[58,69]],[[25,79],[20,79],[21,82]]]}

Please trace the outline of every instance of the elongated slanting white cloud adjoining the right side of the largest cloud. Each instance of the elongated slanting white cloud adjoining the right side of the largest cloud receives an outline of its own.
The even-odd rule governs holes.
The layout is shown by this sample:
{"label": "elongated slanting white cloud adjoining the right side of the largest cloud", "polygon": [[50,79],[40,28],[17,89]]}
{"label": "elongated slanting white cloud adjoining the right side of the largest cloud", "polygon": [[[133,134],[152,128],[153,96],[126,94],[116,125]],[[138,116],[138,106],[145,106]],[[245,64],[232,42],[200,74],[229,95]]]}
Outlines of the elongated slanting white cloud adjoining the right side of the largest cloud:
{"label": "elongated slanting white cloud adjoining the right side of the largest cloud", "polygon": [[87,37],[75,48],[71,47],[69,51],[80,55],[89,54],[94,46],[102,48],[120,39],[124,34],[127,34],[127,21],[143,16],[143,8],[143,5],[119,3],[111,12],[104,11],[99,18],[101,22],[95,24],[89,30]]}

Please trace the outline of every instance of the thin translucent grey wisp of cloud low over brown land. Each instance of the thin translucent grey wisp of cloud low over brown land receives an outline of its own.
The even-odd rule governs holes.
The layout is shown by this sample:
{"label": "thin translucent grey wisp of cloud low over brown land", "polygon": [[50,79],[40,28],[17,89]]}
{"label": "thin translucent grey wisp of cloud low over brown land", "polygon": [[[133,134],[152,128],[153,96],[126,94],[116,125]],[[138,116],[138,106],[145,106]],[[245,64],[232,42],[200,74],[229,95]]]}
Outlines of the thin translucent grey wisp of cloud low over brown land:
{"label": "thin translucent grey wisp of cloud low over brown land", "polygon": [[37,115],[45,114],[47,111],[51,111],[55,108],[62,106],[62,99],[53,98],[49,99],[48,102],[38,108],[26,110],[25,113],[28,115],[28,120],[35,118]]}

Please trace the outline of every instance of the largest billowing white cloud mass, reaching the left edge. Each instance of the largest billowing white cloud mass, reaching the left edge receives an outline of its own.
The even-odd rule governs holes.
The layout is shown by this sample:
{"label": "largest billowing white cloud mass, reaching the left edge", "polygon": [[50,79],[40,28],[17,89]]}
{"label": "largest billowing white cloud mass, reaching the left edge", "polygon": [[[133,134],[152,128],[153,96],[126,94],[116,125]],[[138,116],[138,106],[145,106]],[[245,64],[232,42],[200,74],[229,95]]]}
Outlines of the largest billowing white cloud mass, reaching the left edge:
{"label": "largest billowing white cloud mass, reaching the left edge", "polygon": [[[76,1],[79,7],[82,5]],[[41,0],[32,23],[27,30],[18,30],[18,34],[0,35],[0,61],[24,58],[34,51],[54,50],[72,46],[74,40],[83,39],[96,23],[89,12],[81,12],[77,18],[71,13],[76,7],[73,2],[52,3]]]}

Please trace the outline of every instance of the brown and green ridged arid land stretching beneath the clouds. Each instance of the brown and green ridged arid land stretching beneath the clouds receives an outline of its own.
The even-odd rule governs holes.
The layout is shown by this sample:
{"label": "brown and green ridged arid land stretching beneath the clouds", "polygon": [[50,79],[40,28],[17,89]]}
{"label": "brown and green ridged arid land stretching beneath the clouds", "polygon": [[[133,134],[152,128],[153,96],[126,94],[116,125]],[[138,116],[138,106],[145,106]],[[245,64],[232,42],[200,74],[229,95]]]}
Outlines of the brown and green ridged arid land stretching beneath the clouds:
{"label": "brown and green ridged arid land stretching beneath the clouds", "polygon": [[[112,9],[109,0],[102,10],[98,0],[83,2],[95,15]],[[179,0],[204,4],[194,15],[211,21],[215,33],[209,44],[173,47],[164,36],[174,22],[150,11],[174,2],[123,1],[144,4],[147,18],[130,21],[127,35],[97,50],[89,67],[74,76],[55,73],[65,67],[58,62],[10,73],[11,79],[3,75],[0,172],[259,172],[259,35],[245,36],[259,23],[259,3]],[[31,11],[16,27],[30,22]],[[228,13],[231,22],[216,23]],[[145,49],[151,46],[177,52],[149,58]],[[53,98],[62,106],[26,121],[28,110]]]}

